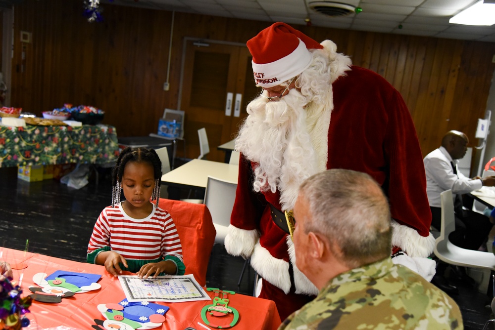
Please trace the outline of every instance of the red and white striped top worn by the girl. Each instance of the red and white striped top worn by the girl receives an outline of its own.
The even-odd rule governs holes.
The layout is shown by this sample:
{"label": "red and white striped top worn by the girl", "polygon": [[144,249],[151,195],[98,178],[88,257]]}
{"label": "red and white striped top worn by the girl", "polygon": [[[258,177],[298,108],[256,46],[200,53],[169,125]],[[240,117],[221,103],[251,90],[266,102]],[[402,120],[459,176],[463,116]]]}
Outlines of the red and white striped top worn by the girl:
{"label": "red and white striped top worn by the girl", "polygon": [[93,229],[88,253],[110,247],[126,259],[153,260],[174,255],[182,261],[182,245],[174,221],[167,211],[153,204],[144,219],[127,215],[122,204],[101,211]]}

